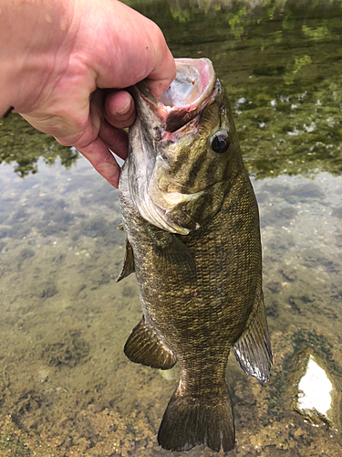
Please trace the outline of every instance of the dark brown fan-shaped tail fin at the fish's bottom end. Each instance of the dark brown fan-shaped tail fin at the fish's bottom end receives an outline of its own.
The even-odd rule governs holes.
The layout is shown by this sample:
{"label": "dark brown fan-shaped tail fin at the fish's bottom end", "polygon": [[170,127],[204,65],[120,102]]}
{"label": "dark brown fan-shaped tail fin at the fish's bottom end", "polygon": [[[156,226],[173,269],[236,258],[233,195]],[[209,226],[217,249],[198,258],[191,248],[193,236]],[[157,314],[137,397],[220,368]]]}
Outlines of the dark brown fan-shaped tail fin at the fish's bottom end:
{"label": "dark brown fan-shaped tail fin at the fish's bottom end", "polygon": [[206,444],[212,451],[232,451],[235,443],[232,401],[181,397],[176,390],[161,420],[158,433],[161,447],[171,451],[189,451]]}

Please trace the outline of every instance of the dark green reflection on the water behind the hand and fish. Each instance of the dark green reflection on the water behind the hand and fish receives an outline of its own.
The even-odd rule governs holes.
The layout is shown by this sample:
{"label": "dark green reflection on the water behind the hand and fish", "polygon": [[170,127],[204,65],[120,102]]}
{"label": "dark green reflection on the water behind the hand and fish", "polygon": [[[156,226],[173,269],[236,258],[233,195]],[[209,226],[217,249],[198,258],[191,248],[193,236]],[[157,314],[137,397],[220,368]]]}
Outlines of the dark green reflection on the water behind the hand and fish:
{"label": "dark green reflection on the water behind the hand and fish", "polygon": [[[130,4],[161,26],[175,57],[212,59],[252,174],[341,174],[341,0]],[[39,154],[75,162],[24,121],[1,122],[0,160],[20,175],[36,171]]]}

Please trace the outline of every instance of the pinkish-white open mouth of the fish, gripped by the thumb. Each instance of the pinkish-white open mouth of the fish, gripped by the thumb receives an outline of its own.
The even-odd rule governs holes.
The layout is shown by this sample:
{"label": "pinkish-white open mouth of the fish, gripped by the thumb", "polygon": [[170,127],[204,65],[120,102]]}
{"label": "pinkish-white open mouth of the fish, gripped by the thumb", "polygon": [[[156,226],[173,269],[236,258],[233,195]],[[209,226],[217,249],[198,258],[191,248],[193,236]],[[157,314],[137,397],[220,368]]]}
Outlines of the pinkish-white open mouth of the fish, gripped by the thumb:
{"label": "pinkish-white open mouth of the fish, gripped by the thumb", "polygon": [[[161,140],[162,131],[172,133],[192,121],[213,101],[216,94],[216,74],[208,58],[176,58],[175,62],[177,76],[160,101],[154,97],[144,81],[136,84],[142,101],[149,105],[150,110],[160,119],[162,128],[156,132],[157,141]],[[184,84],[188,91],[181,97],[177,95],[178,88]],[[191,101],[186,102],[189,97]]]}

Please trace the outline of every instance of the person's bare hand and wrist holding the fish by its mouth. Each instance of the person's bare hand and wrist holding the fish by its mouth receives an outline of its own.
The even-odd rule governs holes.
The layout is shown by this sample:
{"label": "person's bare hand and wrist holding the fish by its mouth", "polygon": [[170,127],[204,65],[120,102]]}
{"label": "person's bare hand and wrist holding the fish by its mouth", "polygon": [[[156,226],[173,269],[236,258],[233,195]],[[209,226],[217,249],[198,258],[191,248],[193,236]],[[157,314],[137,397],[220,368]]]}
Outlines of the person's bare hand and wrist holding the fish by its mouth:
{"label": "person's bare hand and wrist holding the fish by its mouth", "polygon": [[[74,146],[119,185],[134,101],[146,80],[157,98],[175,76],[161,30],[117,0],[0,0],[0,115],[10,107]],[[5,45],[4,45],[5,44]]]}

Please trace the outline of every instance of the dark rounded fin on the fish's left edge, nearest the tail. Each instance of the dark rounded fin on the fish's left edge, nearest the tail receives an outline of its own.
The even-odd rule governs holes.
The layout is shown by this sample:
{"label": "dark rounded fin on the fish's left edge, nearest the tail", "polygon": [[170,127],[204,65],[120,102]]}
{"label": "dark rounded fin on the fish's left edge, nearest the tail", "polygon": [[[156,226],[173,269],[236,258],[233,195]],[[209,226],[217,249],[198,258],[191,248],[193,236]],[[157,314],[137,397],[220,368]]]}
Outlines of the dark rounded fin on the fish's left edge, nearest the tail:
{"label": "dark rounded fin on the fish's left edge, nearest the tail", "polygon": [[177,362],[176,356],[145,323],[144,317],[133,328],[124,352],[132,362],[152,368],[167,370]]}

